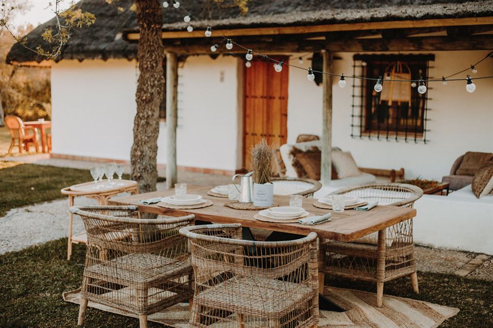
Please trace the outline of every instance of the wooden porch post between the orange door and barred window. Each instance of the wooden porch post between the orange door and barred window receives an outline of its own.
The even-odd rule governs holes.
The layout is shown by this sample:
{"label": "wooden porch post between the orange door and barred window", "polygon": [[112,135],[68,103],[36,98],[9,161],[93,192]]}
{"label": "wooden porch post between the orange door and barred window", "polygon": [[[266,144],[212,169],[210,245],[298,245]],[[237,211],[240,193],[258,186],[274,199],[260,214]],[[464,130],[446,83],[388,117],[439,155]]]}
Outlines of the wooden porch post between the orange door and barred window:
{"label": "wooden porch post between the orange door and barred window", "polygon": [[[332,54],[322,51],[324,72],[332,71]],[[328,185],[332,173],[332,76],[324,74],[324,99],[322,107],[322,149],[321,149],[321,168],[320,180],[322,185]]]}

